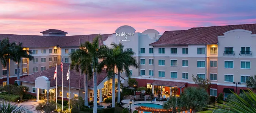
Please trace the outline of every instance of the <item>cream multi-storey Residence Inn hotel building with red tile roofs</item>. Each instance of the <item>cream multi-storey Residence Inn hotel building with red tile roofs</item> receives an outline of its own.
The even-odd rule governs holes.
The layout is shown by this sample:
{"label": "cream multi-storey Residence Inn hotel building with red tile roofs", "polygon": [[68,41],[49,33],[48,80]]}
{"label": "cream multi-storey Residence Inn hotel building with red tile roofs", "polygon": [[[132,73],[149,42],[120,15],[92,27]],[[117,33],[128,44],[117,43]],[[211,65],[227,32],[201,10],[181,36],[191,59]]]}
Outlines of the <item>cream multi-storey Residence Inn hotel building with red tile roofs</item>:
{"label": "cream multi-storey Residence Inn hotel building with red tile roofs", "polygon": [[[114,34],[102,35],[99,44],[110,46],[112,42],[121,42],[124,44],[124,49],[134,51],[136,53],[134,57],[140,67],[139,69],[130,67],[131,78],[138,81],[138,86],[162,89],[163,98],[171,94],[174,88],[179,91],[177,93],[179,96],[184,87],[196,86],[192,75],[209,79],[212,83],[209,90],[211,96],[224,93],[227,97],[230,94],[229,90],[236,92],[236,84],[232,82],[241,82],[237,85],[239,93],[240,89],[246,89],[245,81],[248,76],[256,75],[255,26],[256,24],[240,24],[193,27],[188,30],[165,31],[162,35],[154,29],[139,33],[131,26],[121,26]],[[69,53],[79,49],[80,43],[92,41],[96,37],[96,34],[65,36],[67,32],[54,29],[41,33],[42,36],[0,34],[0,40],[8,37],[10,41],[22,42],[24,49],[33,51],[34,60],[22,60],[22,74],[20,74],[22,78],[19,81],[29,86],[30,92],[35,95],[55,92],[56,84],[53,80],[55,68],[52,67],[60,64],[61,56],[64,57],[63,63],[70,63]],[[10,62],[10,83],[13,84],[17,79],[17,65],[13,61]],[[0,81],[6,84],[6,69],[0,67],[1,69]],[[58,68],[58,73],[61,73],[59,71]],[[64,73],[67,71],[68,65],[64,64]],[[107,81],[104,73],[102,72],[98,77],[100,78],[97,81],[98,97],[104,94],[111,96],[109,92],[112,90],[112,82]],[[123,76],[122,83],[127,86],[125,73],[121,76]],[[72,84],[74,86],[69,92],[71,98],[83,94],[83,80],[83,75],[74,70],[73,73],[71,72],[71,86]],[[65,90],[67,83],[65,79]],[[61,79],[58,79],[58,86],[61,85]],[[93,96],[92,87],[89,85],[88,88],[90,101],[92,101],[90,97]],[[59,96],[68,97],[69,93],[59,92],[61,94]],[[152,93],[156,92],[153,90]]]}

